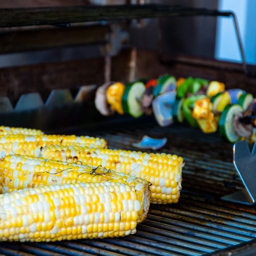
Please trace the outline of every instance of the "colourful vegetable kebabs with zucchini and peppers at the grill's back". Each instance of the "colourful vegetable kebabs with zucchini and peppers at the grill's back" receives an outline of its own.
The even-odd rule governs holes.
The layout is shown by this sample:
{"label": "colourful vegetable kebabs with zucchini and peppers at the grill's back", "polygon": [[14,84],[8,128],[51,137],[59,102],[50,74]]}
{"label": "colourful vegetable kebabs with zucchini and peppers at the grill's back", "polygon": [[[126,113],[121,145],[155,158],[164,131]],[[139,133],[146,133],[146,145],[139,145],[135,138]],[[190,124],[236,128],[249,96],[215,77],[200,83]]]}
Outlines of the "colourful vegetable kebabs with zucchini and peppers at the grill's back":
{"label": "colourful vegetable kebabs with zucchini and peppers at the grill's back", "polygon": [[[160,126],[167,126],[173,123],[173,120],[182,122],[185,119],[190,126],[200,127],[204,133],[214,133],[219,127],[221,136],[232,143],[241,138],[249,141],[255,140],[256,130],[252,129],[252,125],[246,126],[240,121],[240,117],[246,118],[247,110],[254,102],[253,96],[244,90],[225,90],[224,83],[202,78],[187,77],[176,80],[174,76],[168,74],[158,79],[145,80],[145,82],[146,86],[142,81],[131,83],[125,87],[124,93],[119,90],[116,94],[119,102],[120,98],[122,99],[124,114],[140,117],[142,114],[154,113]],[[100,87],[100,90],[103,90],[103,87]],[[127,100],[128,98],[130,100]],[[230,104],[241,105],[243,112],[234,113],[231,115],[231,120],[221,118],[222,113],[229,108]],[[120,112],[115,108],[114,103],[112,103],[112,108]],[[206,111],[208,115],[201,116],[197,113],[198,111]],[[219,123],[220,119],[222,123]],[[226,132],[223,133],[223,119],[224,122],[225,120],[228,122],[226,127],[229,127],[230,136]]]}

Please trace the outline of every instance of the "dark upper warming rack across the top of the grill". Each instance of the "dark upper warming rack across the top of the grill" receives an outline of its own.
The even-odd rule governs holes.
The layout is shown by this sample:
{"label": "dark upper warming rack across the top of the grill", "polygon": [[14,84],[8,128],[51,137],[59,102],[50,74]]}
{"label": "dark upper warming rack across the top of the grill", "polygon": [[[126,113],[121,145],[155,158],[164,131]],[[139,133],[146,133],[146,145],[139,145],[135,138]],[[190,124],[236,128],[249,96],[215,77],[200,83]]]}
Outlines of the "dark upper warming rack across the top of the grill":
{"label": "dark upper warming rack across the top of the grill", "polygon": [[75,6],[0,9],[0,27],[54,25],[99,20],[169,16],[230,16],[230,12],[169,5]]}

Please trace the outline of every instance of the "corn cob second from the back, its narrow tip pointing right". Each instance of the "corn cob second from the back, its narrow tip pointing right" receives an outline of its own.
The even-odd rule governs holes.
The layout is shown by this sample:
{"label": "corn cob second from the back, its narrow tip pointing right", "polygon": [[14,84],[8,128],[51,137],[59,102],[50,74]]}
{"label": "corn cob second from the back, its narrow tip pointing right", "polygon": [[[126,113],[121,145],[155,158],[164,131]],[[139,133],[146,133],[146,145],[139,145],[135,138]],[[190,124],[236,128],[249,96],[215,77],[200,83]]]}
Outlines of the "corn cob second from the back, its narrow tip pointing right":
{"label": "corn cob second from the back, its narrow tip pointing right", "polygon": [[40,147],[59,145],[82,145],[94,147],[106,147],[104,139],[89,136],[75,135],[7,135],[0,136],[0,158],[9,154],[38,155]]}

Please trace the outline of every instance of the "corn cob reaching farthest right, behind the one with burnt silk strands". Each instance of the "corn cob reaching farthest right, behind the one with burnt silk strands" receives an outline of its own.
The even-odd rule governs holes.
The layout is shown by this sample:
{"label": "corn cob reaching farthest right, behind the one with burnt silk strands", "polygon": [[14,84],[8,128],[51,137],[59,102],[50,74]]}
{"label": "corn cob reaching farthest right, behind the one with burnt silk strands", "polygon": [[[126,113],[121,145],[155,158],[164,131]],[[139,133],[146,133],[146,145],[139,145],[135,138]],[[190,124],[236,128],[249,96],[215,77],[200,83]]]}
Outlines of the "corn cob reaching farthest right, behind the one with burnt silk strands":
{"label": "corn cob reaching farthest right, behind the one with burnt silk strands", "polygon": [[51,145],[41,148],[40,156],[92,166],[100,164],[143,178],[152,183],[153,203],[177,203],[180,197],[183,158],[177,155]]}

